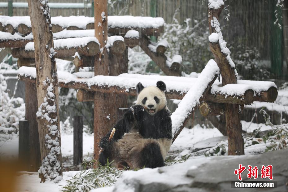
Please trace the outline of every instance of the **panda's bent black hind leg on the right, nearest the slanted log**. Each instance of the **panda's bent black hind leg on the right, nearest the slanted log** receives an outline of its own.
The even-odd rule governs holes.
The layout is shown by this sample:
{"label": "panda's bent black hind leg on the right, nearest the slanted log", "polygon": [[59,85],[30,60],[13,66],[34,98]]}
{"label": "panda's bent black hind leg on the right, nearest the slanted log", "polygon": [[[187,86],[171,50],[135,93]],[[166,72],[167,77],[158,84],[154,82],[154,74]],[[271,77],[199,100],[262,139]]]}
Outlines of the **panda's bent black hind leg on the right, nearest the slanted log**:
{"label": "panda's bent black hind leg on the right, nearest the slanted log", "polygon": [[139,154],[139,167],[156,168],[163,167],[164,160],[160,146],[156,142],[147,143]]}

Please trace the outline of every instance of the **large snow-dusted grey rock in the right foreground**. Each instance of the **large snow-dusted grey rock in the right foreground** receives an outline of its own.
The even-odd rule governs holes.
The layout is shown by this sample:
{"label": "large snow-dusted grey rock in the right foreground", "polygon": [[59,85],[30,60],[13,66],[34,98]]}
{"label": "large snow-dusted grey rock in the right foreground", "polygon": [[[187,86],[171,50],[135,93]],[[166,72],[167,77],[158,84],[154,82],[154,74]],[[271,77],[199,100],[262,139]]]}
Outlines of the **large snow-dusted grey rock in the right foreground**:
{"label": "large snow-dusted grey rock in the right foreground", "polygon": [[[213,144],[213,146],[215,145]],[[260,170],[262,165],[273,165],[273,181],[277,181],[277,188],[267,188],[265,191],[287,191],[287,157],[287,149],[259,155],[192,157],[181,164],[155,169],[144,168],[136,172],[125,171],[114,185],[113,192],[234,191],[235,189],[231,188],[231,181],[238,181],[238,176],[234,174],[234,170],[239,168],[239,164],[246,168],[249,164],[253,167],[257,165],[259,168],[258,179],[248,179],[246,169],[242,173],[243,181],[270,181],[268,178],[261,179]],[[246,188],[239,191],[263,190]],[[97,192],[98,190],[94,191]],[[104,191],[103,188],[101,191]]]}

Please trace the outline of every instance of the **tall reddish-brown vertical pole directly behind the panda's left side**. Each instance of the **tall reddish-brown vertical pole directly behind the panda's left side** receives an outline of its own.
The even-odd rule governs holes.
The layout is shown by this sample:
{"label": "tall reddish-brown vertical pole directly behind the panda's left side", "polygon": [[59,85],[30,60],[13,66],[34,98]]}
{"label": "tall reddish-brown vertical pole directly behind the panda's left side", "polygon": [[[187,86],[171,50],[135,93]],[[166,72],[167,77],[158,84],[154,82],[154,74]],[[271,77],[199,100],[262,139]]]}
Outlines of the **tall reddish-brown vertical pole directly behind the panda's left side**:
{"label": "tall reddish-brown vertical pole directly behind the panda's left side", "polygon": [[[94,62],[94,74],[109,75],[109,63],[105,48],[108,38],[107,0],[94,0],[95,37],[100,43],[99,59]],[[111,127],[111,94],[95,92],[94,94],[94,159],[98,159],[99,142],[101,137]]]}

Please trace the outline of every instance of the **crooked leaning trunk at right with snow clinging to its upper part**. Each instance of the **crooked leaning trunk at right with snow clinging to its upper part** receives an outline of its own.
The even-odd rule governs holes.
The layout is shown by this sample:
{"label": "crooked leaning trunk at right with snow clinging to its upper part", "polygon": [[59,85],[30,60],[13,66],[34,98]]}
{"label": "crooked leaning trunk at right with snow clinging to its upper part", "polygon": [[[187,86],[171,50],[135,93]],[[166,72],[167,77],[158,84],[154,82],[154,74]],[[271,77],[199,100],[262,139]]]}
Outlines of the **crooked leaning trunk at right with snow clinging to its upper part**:
{"label": "crooked leaning trunk at right with snow clinging to its upper part", "polygon": [[[237,83],[237,72],[235,64],[230,57],[230,51],[219,24],[219,16],[224,7],[222,0],[209,0],[208,2],[208,23],[209,23],[209,46],[215,61],[220,68],[222,85]],[[228,155],[244,155],[244,142],[242,137],[242,125],[239,113],[239,104],[225,105],[226,129],[228,135]]]}

